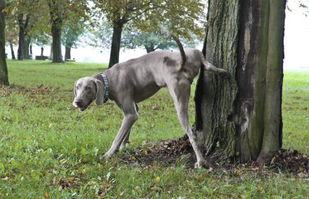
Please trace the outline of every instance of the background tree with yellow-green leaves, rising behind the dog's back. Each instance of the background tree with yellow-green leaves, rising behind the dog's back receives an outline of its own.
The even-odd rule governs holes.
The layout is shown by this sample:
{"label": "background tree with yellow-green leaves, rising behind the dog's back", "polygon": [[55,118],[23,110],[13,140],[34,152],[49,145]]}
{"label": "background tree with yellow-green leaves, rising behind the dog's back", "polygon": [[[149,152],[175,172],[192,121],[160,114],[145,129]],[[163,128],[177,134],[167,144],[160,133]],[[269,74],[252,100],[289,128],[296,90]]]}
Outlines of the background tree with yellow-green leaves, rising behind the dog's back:
{"label": "background tree with yellow-green leaves, rising behind the dog's back", "polygon": [[[185,0],[181,3],[164,0],[93,0],[94,10],[104,14],[113,24],[113,37],[111,42],[111,55],[108,68],[119,62],[122,29],[135,27],[144,32],[157,31],[161,23],[171,25],[171,31],[178,35],[190,37],[189,31],[201,35],[201,27],[196,25],[200,20],[205,5],[199,0]],[[203,17],[202,17],[203,18]]]}

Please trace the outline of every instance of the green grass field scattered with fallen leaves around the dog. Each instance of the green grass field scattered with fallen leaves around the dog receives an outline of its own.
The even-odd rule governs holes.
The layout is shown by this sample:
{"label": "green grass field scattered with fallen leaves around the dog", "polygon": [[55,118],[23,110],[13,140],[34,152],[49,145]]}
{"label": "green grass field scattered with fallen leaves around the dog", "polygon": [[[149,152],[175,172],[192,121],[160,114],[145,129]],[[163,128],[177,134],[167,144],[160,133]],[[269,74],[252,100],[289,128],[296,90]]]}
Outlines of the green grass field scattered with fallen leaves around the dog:
{"label": "green grass field scattered with fallen leaves around the dog", "polygon": [[[11,87],[0,88],[0,198],[308,198],[309,181],[282,171],[209,172],[185,162],[144,167],[111,146],[122,112],[113,103],[80,112],[73,83],[106,64],[8,60]],[[309,73],[284,75],[284,148],[309,154]],[[194,85],[190,122],[194,122]],[[168,92],[139,104],[129,150],[184,134]]]}

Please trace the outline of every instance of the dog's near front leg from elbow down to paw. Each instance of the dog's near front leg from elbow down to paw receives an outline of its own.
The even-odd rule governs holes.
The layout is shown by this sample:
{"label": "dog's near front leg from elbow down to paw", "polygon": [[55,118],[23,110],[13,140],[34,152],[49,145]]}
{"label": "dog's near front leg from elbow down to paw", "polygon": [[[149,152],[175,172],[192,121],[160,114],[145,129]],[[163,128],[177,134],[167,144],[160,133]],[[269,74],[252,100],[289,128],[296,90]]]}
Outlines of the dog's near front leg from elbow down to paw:
{"label": "dog's near front leg from elbow down to paw", "polygon": [[129,136],[131,128],[134,122],[139,118],[137,115],[137,110],[135,103],[126,103],[122,105],[122,111],[124,112],[124,120],[122,120],[122,127],[120,127],[119,132],[117,133],[113,145],[111,148],[104,154],[103,157],[111,157],[115,152],[119,150],[120,145],[124,139]]}

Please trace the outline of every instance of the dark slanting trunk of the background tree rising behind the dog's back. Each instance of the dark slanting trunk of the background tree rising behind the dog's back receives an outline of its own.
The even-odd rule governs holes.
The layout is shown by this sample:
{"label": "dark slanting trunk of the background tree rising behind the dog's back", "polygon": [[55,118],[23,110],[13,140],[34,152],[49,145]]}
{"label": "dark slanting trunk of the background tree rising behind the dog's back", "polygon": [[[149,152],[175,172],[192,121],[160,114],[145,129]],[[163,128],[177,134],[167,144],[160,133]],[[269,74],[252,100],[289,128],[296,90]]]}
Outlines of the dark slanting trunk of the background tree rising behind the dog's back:
{"label": "dark slanting trunk of the background tree rising behind the dog's back", "polygon": [[120,42],[122,40],[122,27],[123,23],[114,23],[113,25],[113,38],[111,44],[111,56],[109,58],[108,68],[119,62]]}

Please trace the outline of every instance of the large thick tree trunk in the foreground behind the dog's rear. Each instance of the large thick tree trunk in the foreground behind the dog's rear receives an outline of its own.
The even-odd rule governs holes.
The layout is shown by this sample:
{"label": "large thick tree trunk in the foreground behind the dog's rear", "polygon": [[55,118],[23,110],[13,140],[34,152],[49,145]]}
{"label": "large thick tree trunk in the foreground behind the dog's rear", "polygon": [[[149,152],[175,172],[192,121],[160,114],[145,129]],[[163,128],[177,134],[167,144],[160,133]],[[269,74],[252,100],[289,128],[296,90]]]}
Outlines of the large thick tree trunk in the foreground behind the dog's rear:
{"label": "large thick tree trunk in the foreground behind the dog's rear", "polygon": [[282,146],[285,1],[209,1],[203,52],[231,75],[201,70],[195,133],[210,157],[264,163]]}

